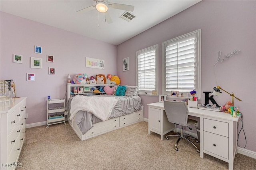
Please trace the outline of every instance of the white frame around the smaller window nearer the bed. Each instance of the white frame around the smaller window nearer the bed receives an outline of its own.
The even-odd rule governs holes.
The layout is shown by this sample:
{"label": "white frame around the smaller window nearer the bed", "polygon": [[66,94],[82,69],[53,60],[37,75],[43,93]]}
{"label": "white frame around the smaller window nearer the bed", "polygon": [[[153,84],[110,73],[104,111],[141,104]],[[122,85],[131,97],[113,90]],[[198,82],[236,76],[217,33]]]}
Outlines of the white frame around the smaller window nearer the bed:
{"label": "white frame around the smaller window nearer the bed", "polygon": [[[155,54],[155,89],[154,90],[158,90],[158,44],[154,45],[154,46],[150,46],[148,48],[144,48],[142,50],[136,51],[136,86],[138,86],[138,54],[142,53],[142,52],[146,52],[148,50],[154,49],[156,50],[156,54]],[[152,90],[140,90],[138,89],[138,93],[139,94],[148,94],[148,95],[152,95]],[[157,94],[158,95],[158,94]],[[154,95],[155,96],[155,95]]]}

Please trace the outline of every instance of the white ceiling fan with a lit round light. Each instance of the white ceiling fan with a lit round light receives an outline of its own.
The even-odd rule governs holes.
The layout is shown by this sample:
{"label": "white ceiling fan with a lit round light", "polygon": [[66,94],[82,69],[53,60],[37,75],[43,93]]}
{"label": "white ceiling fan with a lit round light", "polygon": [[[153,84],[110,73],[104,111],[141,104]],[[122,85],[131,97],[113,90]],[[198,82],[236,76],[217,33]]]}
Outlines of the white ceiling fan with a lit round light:
{"label": "white ceiling fan with a lit round light", "polygon": [[106,22],[108,22],[108,24],[110,24],[110,23],[112,23],[112,19],[111,19],[110,15],[108,14],[108,8],[114,8],[114,9],[118,9],[118,10],[126,10],[126,11],[130,11],[130,12],[133,12],[133,10],[134,10],[134,6],[132,6],[132,5],[110,3],[110,2],[108,2],[108,0],[94,0],[94,1],[95,1],[95,5],[88,6],[81,10],[78,10],[76,12],[84,13],[84,12],[94,10],[96,8],[98,10],[98,12],[102,12],[102,13],[106,14],[105,15]]}

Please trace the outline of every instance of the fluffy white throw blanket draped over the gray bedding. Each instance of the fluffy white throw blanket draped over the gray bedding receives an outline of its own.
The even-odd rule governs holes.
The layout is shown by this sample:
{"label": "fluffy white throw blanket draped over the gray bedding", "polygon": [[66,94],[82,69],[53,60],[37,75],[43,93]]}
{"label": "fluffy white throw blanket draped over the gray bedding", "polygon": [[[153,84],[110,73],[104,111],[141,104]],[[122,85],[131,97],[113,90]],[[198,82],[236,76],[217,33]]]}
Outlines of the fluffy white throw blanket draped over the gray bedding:
{"label": "fluffy white throw blanket draped over the gray bedding", "polygon": [[108,120],[116,105],[118,98],[115,97],[96,97],[96,96],[75,96],[70,104],[70,120],[78,111],[91,112],[102,121]]}

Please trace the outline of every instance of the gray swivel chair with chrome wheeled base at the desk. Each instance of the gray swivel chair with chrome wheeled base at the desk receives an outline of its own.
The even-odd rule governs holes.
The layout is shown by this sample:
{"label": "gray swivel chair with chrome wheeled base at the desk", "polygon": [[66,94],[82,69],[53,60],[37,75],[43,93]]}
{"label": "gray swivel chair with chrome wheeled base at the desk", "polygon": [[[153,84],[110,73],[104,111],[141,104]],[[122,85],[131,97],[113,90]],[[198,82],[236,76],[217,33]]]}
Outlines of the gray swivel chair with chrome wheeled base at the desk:
{"label": "gray swivel chair with chrome wheeled base at the desk", "polygon": [[[168,121],[171,123],[174,123],[175,125],[180,125],[180,134],[173,134],[166,136],[166,139],[169,139],[169,136],[179,136],[175,146],[175,150],[178,150],[177,146],[180,142],[180,139],[186,139],[188,142],[190,142],[194,147],[196,145],[191,142],[188,138],[189,136],[183,135],[183,126],[190,126],[192,124],[196,124],[196,120],[188,119],[188,107],[186,105],[186,102],[175,102],[175,101],[164,101],[164,110],[166,112],[166,116],[168,118]],[[175,126],[176,128],[176,126]],[[198,141],[197,141],[198,142]],[[199,153],[198,147],[196,147],[196,151]]]}

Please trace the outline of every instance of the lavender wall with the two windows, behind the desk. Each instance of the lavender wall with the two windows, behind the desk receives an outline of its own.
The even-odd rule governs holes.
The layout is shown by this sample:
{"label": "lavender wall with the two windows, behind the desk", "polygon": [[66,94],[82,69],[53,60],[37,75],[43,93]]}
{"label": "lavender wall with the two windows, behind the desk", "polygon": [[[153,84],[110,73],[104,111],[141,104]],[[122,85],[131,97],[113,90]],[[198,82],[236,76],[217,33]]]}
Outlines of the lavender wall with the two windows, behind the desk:
{"label": "lavender wall with the two windows, behind the desk", "polygon": [[[246,134],[246,149],[256,152],[256,112],[255,112],[255,44],[256,44],[256,1],[202,1],[146,30],[117,47],[117,70],[121,84],[135,85],[136,51],[159,44],[159,93],[162,86],[162,42],[177,36],[201,29],[202,52],[202,92],[212,91],[214,86],[221,86],[234,94],[242,102],[234,99],[234,105],[243,113],[243,126]],[[233,50],[241,50],[228,60],[218,63],[217,52],[224,55]],[[122,59],[129,57],[129,71],[122,72]],[[158,102],[158,97],[141,96],[144,105],[144,117],[148,118],[146,104]],[[201,103],[204,103],[204,94]],[[229,94],[214,99],[220,105],[231,100]],[[170,99],[171,100],[171,99]],[[214,112],[213,112],[214,114]],[[241,128],[241,123],[238,130]],[[240,147],[245,146],[241,132],[238,140]]]}

